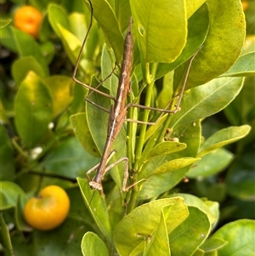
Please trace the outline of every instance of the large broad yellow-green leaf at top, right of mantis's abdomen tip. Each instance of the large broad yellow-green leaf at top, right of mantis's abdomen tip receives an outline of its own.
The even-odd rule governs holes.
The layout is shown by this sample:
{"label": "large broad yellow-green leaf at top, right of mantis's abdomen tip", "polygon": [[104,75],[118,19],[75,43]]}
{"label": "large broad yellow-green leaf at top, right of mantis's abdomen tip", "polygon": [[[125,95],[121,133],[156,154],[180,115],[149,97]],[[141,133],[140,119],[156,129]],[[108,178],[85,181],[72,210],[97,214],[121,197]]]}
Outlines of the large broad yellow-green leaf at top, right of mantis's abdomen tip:
{"label": "large broad yellow-green leaf at top, right of mantis's abdomen tip", "polygon": [[145,62],[176,60],[187,39],[184,1],[130,1],[130,5]]}

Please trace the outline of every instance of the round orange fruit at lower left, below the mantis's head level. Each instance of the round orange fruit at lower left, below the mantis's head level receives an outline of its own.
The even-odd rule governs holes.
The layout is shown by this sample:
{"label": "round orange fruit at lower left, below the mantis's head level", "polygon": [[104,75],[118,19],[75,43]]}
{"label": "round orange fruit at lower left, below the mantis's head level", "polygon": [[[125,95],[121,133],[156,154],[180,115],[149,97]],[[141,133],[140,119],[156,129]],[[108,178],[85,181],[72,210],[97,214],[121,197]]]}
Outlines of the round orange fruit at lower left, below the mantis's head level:
{"label": "round orange fruit at lower left, below the mantis's head level", "polygon": [[37,230],[53,230],[65,220],[69,208],[66,192],[58,185],[48,185],[39,196],[26,202],[24,217]]}

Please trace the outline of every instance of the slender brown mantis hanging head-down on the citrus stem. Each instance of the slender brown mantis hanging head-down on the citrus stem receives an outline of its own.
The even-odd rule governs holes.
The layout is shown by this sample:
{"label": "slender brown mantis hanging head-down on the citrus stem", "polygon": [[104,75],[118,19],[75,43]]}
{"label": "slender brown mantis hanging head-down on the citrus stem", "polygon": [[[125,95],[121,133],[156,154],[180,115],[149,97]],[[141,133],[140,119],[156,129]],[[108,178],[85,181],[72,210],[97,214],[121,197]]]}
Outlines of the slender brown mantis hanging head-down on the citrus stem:
{"label": "slender brown mantis hanging head-down on the citrus stem", "polygon": [[[92,26],[93,6],[92,6],[92,3],[90,1],[88,1],[88,3],[90,4],[91,13],[92,13],[91,14],[91,20],[90,20],[90,26],[88,27],[88,32],[89,32],[90,29],[91,29],[91,26]],[[182,90],[179,94],[179,98],[178,98],[177,104],[175,105],[174,110],[158,109],[158,108],[153,108],[153,107],[145,107],[144,105],[138,105],[138,104],[133,104],[133,103],[129,103],[129,104],[126,105],[127,93],[130,89],[130,77],[131,77],[132,62],[133,62],[133,36],[132,36],[132,32],[131,32],[132,23],[133,23],[132,18],[130,18],[128,28],[127,28],[127,35],[125,37],[124,51],[123,51],[123,57],[122,57],[122,68],[121,68],[121,73],[120,73],[120,77],[119,77],[119,83],[118,83],[116,98],[112,97],[109,94],[105,94],[105,93],[99,91],[98,88],[91,88],[90,86],[88,86],[85,83],[80,82],[76,78],[77,67],[78,67],[79,61],[81,59],[82,48],[83,48],[83,46],[84,46],[84,44],[87,40],[87,37],[88,37],[88,32],[87,32],[87,35],[84,38],[84,41],[82,43],[82,48],[81,48],[80,54],[79,54],[78,59],[77,59],[77,65],[76,65],[74,73],[73,73],[73,80],[75,82],[81,84],[85,88],[91,89],[93,92],[102,94],[102,95],[104,95],[104,96],[106,96],[106,97],[108,97],[108,98],[110,98],[111,100],[114,101],[113,105],[111,105],[111,110],[109,111],[110,116],[109,116],[109,119],[108,119],[107,136],[106,136],[105,148],[104,148],[104,151],[103,151],[103,154],[102,154],[102,157],[101,157],[101,161],[94,168],[91,168],[87,172],[87,177],[88,177],[88,180],[89,180],[90,188],[91,189],[96,189],[96,190],[99,190],[99,191],[103,191],[102,179],[104,178],[105,173],[107,171],[109,171],[111,168],[113,168],[119,162],[125,162],[124,178],[123,178],[123,183],[122,183],[122,191],[127,191],[130,187],[132,187],[134,185],[133,184],[133,185],[128,185],[127,186],[127,178],[128,178],[128,158],[127,158],[127,156],[124,156],[124,157],[120,158],[119,160],[117,160],[116,162],[112,163],[111,165],[109,165],[107,167],[107,163],[111,159],[111,156],[113,156],[114,153],[116,152],[115,150],[112,151],[111,147],[114,143],[114,140],[116,139],[117,134],[119,134],[119,132],[121,131],[123,122],[124,121],[140,122],[138,120],[126,119],[127,108],[130,107],[130,106],[133,106],[133,107],[139,107],[139,108],[143,108],[143,109],[149,109],[149,110],[152,110],[152,111],[161,111],[162,113],[164,113],[164,112],[165,113],[175,113],[176,111],[178,111],[182,95],[184,94],[184,86],[185,86],[185,83],[186,83],[186,80],[187,80],[187,77],[188,77],[188,74],[189,74],[190,65],[191,65],[192,60],[195,58],[195,55],[194,55],[190,60],[190,65],[188,66],[188,71],[187,71],[186,76],[184,78],[184,86],[183,86],[183,88],[182,88]],[[108,77],[110,77],[110,76],[111,76],[111,74]],[[106,77],[106,79],[107,79],[107,77]],[[86,99],[86,100],[88,100],[88,99]],[[91,100],[88,100],[88,102],[90,102],[93,105],[97,105],[94,102],[92,102]],[[100,105],[97,105],[97,106],[99,108],[105,110]],[[154,123],[150,123],[150,122],[141,122],[141,123],[154,124]],[[94,178],[92,180],[90,180],[88,174],[91,174],[94,170],[96,170],[96,174],[95,174]],[[136,182],[135,184],[137,184],[137,183],[138,182]]]}

